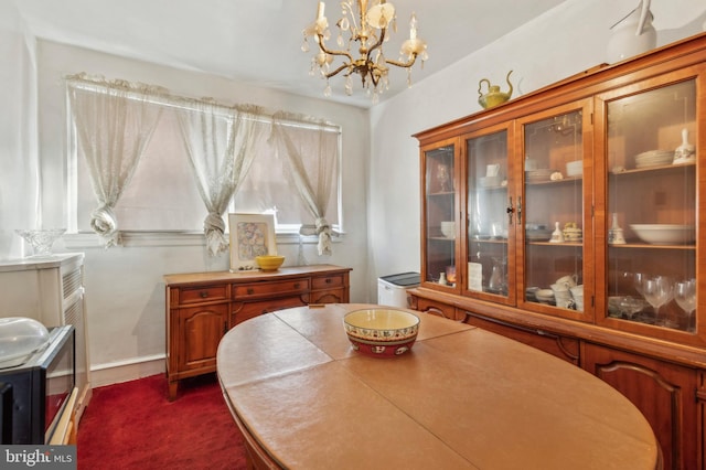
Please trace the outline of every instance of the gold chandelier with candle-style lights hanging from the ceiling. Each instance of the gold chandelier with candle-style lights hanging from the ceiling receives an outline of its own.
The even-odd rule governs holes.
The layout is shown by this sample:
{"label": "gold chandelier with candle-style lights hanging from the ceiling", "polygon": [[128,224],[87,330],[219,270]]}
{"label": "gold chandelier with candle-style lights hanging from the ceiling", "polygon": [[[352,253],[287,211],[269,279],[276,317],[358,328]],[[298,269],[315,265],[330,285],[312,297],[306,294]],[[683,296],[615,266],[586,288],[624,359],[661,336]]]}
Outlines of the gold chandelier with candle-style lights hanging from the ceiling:
{"label": "gold chandelier with candle-style lights hanging from the ceiling", "polygon": [[[322,78],[327,79],[323,90],[324,96],[331,96],[329,78],[343,72],[345,76],[345,93],[353,94],[352,75],[360,74],[363,88],[372,94],[373,104],[379,100],[379,94],[389,88],[387,73],[389,65],[407,68],[407,86],[411,86],[411,66],[417,56],[424,61],[428,58],[427,43],[417,38],[417,18],[411,13],[409,21],[409,39],[406,40],[399,51],[399,60],[385,57],[383,43],[389,40],[388,29],[397,32],[395,7],[385,0],[373,0],[368,9],[368,0],[341,1],[341,19],[335,23],[339,29],[336,38],[338,50],[329,49],[325,44],[331,38],[329,21],[324,17],[325,3],[319,2],[317,20],[304,29],[303,52],[309,52],[309,36],[313,38],[318,51],[311,58],[310,75],[318,70]],[[344,39],[344,34],[349,38]],[[347,46],[346,46],[347,42]],[[356,45],[357,44],[357,45]],[[357,49],[357,58],[354,58],[351,47]],[[333,68],[331,63],[335,56],[343,58],[343,63]]]}

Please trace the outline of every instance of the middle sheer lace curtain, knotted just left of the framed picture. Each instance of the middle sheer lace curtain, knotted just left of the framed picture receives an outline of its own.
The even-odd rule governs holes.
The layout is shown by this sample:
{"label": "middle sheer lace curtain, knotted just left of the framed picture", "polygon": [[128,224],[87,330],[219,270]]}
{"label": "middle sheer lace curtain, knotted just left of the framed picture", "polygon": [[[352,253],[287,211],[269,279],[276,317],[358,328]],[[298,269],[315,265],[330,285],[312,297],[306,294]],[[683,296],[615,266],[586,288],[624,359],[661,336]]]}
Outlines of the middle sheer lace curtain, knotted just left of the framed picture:
{"label": "middle sheer lace curtain, knotted just left of the framed picture", "polygon": [[269,125],[257,106],[225,107],[190,100],[178,110],[184,143],[199,192],[208,214],[204,221],[211,256],[228,252],[223,214],[247,174]]}

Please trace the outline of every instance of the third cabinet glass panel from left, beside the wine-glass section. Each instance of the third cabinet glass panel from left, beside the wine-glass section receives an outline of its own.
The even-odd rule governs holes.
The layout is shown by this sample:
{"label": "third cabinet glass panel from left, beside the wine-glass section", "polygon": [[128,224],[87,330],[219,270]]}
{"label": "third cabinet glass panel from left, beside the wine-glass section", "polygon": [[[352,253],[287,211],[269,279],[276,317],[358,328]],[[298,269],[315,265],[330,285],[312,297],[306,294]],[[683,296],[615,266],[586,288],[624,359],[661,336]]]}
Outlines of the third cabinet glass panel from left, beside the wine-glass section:
{"label": "third cabinet glass panel from left, beside the wine-glass section", "polygon": [[525,298],[584,311],[582,111],[524,126]]}

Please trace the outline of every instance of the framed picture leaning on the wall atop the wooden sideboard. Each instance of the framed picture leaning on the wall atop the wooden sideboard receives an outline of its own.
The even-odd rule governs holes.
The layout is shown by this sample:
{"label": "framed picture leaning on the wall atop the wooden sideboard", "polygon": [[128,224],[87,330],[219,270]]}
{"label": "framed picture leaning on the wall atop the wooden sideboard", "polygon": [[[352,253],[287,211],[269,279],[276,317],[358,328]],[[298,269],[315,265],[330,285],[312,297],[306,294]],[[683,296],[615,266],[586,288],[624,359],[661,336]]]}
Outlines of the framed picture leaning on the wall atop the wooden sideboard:
{"label": "framed picture leaning on the wall atop the wooden sideboard", "polygon": [[256,256],[276,255],[272,214],[228,214],[231,271],[257,269]]}

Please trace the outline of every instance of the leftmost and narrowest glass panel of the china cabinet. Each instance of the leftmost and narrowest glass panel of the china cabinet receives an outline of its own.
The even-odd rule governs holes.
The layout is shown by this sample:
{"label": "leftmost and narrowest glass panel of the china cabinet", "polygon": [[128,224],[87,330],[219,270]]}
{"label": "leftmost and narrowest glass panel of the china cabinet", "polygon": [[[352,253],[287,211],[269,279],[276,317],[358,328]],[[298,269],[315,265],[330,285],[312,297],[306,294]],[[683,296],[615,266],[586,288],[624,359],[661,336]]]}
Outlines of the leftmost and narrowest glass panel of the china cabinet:
{"label": "leftmost and narrowest glass panel of the china cabinet", "polygon": [[426,281],[456,284],[457,210],[453,146],[425,153]]}

